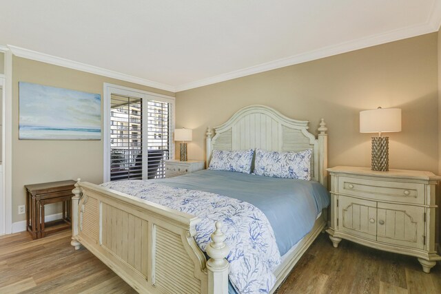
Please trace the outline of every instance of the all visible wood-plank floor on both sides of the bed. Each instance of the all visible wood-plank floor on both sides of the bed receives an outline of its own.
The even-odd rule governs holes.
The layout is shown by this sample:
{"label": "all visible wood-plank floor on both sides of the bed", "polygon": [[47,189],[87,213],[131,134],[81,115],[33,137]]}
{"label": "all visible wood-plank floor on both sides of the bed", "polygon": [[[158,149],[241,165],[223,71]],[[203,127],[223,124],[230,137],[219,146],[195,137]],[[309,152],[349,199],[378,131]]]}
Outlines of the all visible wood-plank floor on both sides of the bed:
{"label": "all visible wood-plank floor on both sides of the bed", "polygon": [[[0,293],[136,292],[63,231],[0,237]],[[441,264],[427,274],[416,258],[345,240],[334,249],[320,234],[277,293],[441,293]]]}

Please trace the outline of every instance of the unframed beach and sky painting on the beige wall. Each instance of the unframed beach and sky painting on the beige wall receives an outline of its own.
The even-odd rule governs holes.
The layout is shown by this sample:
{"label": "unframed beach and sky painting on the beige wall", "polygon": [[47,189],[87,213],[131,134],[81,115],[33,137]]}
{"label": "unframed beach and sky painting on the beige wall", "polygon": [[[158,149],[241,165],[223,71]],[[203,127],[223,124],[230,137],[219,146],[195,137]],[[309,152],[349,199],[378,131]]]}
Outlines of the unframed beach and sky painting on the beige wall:
{"label": "unframed beach and sky painting on the beige wall", "polygon": [[20,140],[101,140],[101,95],[19,82]]}

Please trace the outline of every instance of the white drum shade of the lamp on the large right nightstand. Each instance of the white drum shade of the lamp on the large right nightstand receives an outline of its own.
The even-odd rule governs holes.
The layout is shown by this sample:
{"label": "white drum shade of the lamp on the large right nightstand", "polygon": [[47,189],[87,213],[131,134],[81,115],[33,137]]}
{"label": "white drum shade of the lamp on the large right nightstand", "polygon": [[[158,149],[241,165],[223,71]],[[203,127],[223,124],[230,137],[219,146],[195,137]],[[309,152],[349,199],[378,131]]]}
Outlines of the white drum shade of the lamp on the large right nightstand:
{"label": "white drum shade of the lamp on the large right nightstand", "polygon": [[378,108],[360,112],[360,133],[401,132],[401,109]]}

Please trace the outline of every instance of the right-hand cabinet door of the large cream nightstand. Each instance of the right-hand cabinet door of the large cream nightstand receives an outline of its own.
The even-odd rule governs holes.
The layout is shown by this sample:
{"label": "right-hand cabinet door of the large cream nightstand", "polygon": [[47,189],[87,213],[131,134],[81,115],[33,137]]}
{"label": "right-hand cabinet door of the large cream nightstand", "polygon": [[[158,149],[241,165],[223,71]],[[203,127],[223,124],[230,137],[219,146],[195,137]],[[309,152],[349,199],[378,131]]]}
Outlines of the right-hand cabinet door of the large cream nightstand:
{"label": "right-hand cabinet door of the large cream nightstand", "polygon": [[377,240],[424,249],[424,207],[378,203]]}

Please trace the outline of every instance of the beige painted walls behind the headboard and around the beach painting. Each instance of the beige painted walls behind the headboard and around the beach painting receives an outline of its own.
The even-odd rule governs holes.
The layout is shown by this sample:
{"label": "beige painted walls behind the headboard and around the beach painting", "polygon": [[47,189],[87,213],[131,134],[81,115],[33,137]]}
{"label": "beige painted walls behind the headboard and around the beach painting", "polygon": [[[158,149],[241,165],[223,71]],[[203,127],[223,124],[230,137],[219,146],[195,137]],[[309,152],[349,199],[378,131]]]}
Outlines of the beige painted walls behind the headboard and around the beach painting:
{"label": "beige painted walls behind the headboard and around the beach painting", "polygon": [[[13,59],[12,221],[24,204],[24,185],[81,177],[103,179],[103,141],[18,140],[18,82],[26,81],[103,95],[114,83],[174,96],[64,67]],[[378,45],[317,61],[237,78],[176,94],[176,127],[194,129],[189,158],[205,158],[205,129],[241,107],[263,104],[283,114],[329,127],[329,166],[370,166],[370,134],[358,132],[358,112],[402,108],[402,132],[389,134],[391,168],[438,173],[438,34]]]}

